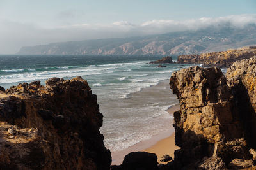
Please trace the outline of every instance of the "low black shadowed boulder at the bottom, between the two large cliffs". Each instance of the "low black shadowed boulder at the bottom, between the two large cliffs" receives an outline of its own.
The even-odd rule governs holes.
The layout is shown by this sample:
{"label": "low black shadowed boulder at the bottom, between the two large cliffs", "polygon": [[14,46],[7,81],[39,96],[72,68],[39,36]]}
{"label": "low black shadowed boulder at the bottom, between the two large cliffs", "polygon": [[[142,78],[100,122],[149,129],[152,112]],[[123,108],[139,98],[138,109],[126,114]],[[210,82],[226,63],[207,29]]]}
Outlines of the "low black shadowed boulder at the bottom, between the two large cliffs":
{"label": "low black shadowed boulder at the bottom, between the two large cliffs", "polygon": [[124,157],[123,163],[120,166],[112,166],[111,169],[117,170],[155,170],[157,166],[157,156],[155,153],[148,152],[131,152]]}

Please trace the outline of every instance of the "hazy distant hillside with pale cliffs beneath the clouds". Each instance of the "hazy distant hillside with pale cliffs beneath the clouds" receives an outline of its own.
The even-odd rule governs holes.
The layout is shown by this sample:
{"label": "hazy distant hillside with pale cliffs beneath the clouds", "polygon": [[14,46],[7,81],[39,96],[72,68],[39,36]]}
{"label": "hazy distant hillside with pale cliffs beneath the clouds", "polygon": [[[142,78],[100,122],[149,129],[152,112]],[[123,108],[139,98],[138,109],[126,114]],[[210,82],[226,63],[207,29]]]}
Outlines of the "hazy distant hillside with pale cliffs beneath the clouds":
{"label": "hazy distant hillside with pale cliffs beneath the clouds", "polygon": [[198,31],[132,38],[69,41],[22,47],[17,54],[54,55],[185,55],[256,45],[256,25],[217,25]]}

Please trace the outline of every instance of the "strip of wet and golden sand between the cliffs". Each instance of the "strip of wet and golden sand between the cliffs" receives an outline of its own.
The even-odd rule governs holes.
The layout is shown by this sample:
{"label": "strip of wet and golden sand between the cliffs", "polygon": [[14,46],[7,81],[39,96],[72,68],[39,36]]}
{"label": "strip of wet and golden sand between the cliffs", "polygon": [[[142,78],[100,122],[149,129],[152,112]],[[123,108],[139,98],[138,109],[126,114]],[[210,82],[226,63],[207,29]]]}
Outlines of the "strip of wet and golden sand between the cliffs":
{"label": "strip of wet and golden sand between the cliffs", "polygon": [[[180,105],[170,106],[166,111],[173,116],[173,112],[180,109]],[[145,141],[140,141],[133,146],[125,148],[124,150],[111,152],[112,163],[111,165],[120,165],[124,160],[125,155],[130,152],[138,152],[138,151],[145,151],[150,153],[156,153],[157,161],[161,159],[164,154],[168,154],[173,157],[174,150],[178,149],[178,146],[175,146],[174,142],[174,134],[175,130],[172,127],[173,120],[170,124],[170,129],[168,131],[163,132],[161,134],[157,134],[152,136],[152,138],[147,139]],[[161,155],[163,153],[163,155]],[[160,162],[159,162],[160,163]],[[163,163],[163,162],[161,162]]]}

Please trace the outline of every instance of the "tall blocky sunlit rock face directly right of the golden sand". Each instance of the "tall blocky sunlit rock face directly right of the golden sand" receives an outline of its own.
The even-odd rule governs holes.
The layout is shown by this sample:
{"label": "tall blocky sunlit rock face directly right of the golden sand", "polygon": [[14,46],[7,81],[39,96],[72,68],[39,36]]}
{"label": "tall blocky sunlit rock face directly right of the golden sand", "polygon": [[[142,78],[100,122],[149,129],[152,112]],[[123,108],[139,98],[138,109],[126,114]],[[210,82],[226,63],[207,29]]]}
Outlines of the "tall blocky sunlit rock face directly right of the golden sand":
{"label": "tall blocky sunlit rock face directly right of the golden sand", "polygon": [[[220,69],[182,69],[172,74],[170,87],[180,101],[173,124],[175,143],[180,146],[175,150],[175,169],[209,169],[217,162],[224,168],[234,159],[252,160],[249,130],[234,100],[234,86],[227,84]],[[246,167],[250,162],[246,161]]]}

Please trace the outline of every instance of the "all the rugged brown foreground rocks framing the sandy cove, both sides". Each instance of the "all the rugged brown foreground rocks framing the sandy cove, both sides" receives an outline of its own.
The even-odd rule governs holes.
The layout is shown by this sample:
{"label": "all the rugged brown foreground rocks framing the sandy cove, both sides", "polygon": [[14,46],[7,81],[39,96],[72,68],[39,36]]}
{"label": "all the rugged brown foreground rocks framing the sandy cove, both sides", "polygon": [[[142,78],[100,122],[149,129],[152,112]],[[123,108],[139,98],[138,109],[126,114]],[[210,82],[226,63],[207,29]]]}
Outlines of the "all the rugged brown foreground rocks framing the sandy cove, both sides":
{"label": "all the rugged brown foreground rocks framing the sandy cove, both sides", "polygon": [[255,169],[256,57],[218,68],[172,74],[180,102],[174,113],[174,160],[129,153],[120,166],[99,128],[97,96],[86,80],[51,78],[0,88],[0,169]]}

